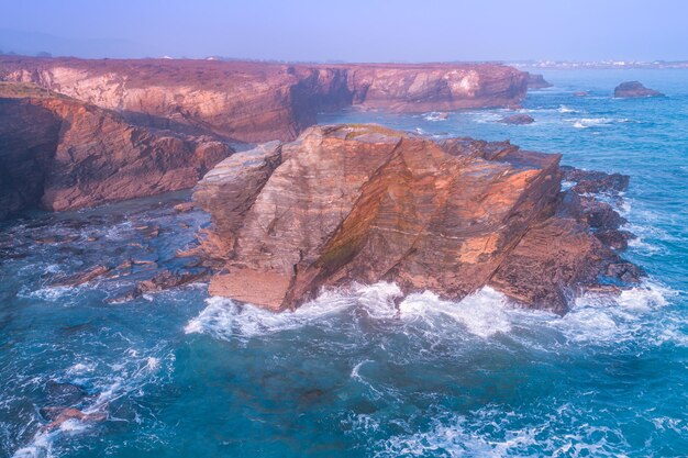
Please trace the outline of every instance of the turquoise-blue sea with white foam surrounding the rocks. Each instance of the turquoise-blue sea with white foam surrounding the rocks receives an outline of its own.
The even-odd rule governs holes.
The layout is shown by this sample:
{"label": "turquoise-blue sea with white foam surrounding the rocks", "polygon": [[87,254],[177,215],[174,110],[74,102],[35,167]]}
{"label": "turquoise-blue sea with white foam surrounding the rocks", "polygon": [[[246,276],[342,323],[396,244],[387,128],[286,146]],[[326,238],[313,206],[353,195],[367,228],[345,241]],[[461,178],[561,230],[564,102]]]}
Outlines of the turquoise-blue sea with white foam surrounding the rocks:
{"label": "turquoise-blue sea with white foam surrounding the rocks", "polygon": [[[578,298],[564,317],[490,289],[395,308],[388,283],[280,315],[209,298],[203,284],[109,303],[179,266],[176,250],[208,224],[170,210],[188,194],[27,214],[0,227],[0,456],[688,456],[688,71],[545,78],[555,86],[520,110],[531,125],[496,123],[504,110],[320,121],[511,138],[629,174],[618,204],[639,236],[626,257],[648,272],[644,284]],[[667,97],[610,97],[632,79]],[[124,259],[138,261],[131,277],[52,286]],[[107,420],[45,429],[40,411],[56,387]]]}

